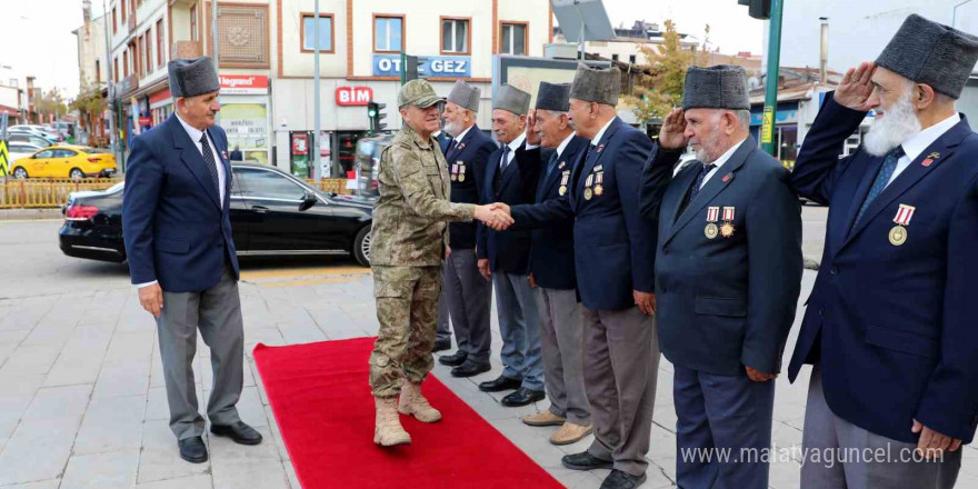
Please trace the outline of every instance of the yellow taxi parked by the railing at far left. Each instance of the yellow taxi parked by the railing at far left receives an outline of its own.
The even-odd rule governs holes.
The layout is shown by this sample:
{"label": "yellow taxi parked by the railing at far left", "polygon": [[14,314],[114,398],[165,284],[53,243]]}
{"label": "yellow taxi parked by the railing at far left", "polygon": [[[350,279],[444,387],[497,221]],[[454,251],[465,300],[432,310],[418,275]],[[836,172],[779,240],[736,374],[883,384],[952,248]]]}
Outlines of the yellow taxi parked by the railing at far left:
{"label": "yellow taxi parked by the railing at far left", "polygon": [[52,146],[11,164],[14,178],[104,178],[118,172],[116,157],[86,146]]}

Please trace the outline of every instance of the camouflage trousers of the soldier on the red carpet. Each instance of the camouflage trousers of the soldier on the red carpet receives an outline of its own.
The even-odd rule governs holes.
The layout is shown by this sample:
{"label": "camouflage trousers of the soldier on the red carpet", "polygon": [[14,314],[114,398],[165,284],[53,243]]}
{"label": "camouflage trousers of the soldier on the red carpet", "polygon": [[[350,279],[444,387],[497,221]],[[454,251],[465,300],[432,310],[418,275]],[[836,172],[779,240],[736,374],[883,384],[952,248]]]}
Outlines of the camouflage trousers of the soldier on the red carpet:
{"label": "camouflage trousers of the soldier on the red carpet", "polygon": [[380,332],[370,353],[370,387],[375,397],[390,398],[400,393],[405,379],[420,383],[435,365],[441,267],[372,270]]}

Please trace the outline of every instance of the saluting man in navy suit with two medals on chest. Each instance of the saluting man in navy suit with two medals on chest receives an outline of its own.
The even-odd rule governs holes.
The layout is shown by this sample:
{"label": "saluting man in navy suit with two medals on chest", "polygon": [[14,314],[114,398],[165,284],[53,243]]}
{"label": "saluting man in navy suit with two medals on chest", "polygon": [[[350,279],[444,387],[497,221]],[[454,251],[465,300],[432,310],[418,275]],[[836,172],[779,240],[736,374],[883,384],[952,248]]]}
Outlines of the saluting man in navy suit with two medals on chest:
{"label": "saluting man in navy suit with two medals on chest", "polygon": [[[659,345],[673,366],[678,451],[758,453],[680,456],[679,487],[768,487],[761,455],[801,285],[801,209],[788,171],[750,137],[749,110],[744,68],[690,67],[642,174],[643,216],[659,222]],[[663,193],[687,144],[697,161]]]}

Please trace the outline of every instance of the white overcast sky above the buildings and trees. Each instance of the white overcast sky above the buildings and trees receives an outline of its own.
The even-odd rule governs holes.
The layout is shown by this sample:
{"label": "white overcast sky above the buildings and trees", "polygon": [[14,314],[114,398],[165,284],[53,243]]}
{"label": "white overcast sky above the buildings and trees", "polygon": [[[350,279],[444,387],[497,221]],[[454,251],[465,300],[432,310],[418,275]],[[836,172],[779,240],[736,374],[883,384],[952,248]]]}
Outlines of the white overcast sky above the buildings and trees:
{"label": "white overcast sky above the buildings and trees", "polygon": [[[102,1],[92,3],[94,16],[101,14]],[[615,27],[630,27],[636,20],[661,24],[673,19],[680,32],[701,38],[709,22],[710,43],[721,52],[761,50],[764,23],[748,17],[747,8],[736,0],[605,0],[605,6]],[[37,77],[44,90],[59,87],[74,97],[78,41],[71,31],[82,22],[81,0],[0,0],[0,19],[4,28],[0,66],[12,67],[21,78]]]}

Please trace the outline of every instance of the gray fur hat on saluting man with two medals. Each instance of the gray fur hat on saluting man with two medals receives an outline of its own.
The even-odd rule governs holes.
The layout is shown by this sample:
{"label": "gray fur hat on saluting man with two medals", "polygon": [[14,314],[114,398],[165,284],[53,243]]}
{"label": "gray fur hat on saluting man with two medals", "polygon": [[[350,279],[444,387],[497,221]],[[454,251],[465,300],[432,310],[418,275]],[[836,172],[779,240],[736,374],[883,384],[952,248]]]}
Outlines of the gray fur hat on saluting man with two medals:
{"label": "gray fur hat on saluting man with two medals", "polygon": [[688,109],[750,110],[744,67],[689,67],[682,90],[682,110]]}

